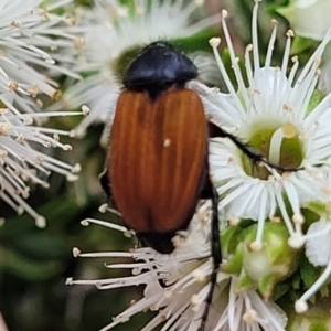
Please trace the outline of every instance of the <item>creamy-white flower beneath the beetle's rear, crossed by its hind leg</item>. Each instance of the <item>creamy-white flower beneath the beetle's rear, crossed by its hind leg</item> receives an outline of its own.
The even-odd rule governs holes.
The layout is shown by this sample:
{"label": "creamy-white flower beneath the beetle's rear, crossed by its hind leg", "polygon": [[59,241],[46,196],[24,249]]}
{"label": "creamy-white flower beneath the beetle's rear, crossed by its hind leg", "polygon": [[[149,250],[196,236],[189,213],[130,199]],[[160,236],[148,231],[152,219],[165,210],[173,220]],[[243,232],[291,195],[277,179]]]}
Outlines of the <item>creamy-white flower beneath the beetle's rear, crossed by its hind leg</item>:
{"label": "creamy-white flower beneath the beetle's rear, crossed by its hind leg", "polygon": [[[110,269],[129,268],[132,276],[99,279],[73,280],[68,285],[95,285],[99,289],[111,289],[145,285],[143,298],[117,316],[102,329],[110,330],[128,321],[134,314],[147,309],[157,310],[157,314],[142,330],[154,330],[164,322],[162,330],[199,330],[204,312],[204,300],[210,289],[210,275],[213,269],[210,256],[210,204],[202,205],[191,221],[188,232],[181,232],[174,238],[177,249],[171,255],[156,253],[151,248],[136,248],[130,253],[109,252],[82,254],[74,248],[74,256],[79,257],[129,257],[131,264],[107,265]],[[110,228],[128,233],[125,227],[97,220],[86,220]],[[236,290],[236,277],[222,271],[217,275],[213,302],[206,321],[206,330],[284,330],[287,318],[282,310],[264,300],[254,291]]]}

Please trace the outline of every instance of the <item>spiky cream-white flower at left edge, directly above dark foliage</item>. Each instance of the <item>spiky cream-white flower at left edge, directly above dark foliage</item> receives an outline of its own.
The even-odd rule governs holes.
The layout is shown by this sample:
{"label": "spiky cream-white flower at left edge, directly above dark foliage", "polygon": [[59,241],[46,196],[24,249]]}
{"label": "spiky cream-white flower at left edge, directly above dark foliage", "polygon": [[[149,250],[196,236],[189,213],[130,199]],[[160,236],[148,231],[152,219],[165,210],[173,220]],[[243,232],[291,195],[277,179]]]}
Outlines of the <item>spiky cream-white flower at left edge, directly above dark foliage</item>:
{"label": "spiky cream-white flower at left edge, directly above dark foliage", "polygon": [[39,227],[45,226],[45,218],[24,201],[30,195],[29,183],[49,188],[49,183],[41,178],[45,179],[52,171],[65,175],[70,181],[76,180],[79,166],[72,167],[36,150],[35,146],[63,150],[71,150],[72,147],[60,142],[60,135],[67,136],[70,132],[32,126],[33,119],[78,114],[17,115],[8,108],[0,109],[0,199],[18,214],[28,212]]}

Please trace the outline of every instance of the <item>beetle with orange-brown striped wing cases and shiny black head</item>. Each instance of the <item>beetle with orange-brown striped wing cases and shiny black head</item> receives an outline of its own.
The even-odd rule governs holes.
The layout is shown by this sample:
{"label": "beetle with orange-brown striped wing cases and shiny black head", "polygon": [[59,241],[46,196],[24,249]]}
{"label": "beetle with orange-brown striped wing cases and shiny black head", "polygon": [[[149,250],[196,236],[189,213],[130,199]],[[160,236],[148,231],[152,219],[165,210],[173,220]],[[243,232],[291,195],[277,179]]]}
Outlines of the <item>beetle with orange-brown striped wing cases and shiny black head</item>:
{"label": "beetle with orange-brown striped wing cases and shiny black head", "polygon": [[172,238],[188,228],[199,200],[212,200],[213,270],[200,328],[204,330],[222,264],[218,196],[209,177],[207,139],[228,138],[253,162],[274,164],[206,121],[200,96],[186,88],[196,77],[193,62],[170,43],[158,41],[140,51],[124,75],[100,182],[125,225],[161,254],[173,252]]}

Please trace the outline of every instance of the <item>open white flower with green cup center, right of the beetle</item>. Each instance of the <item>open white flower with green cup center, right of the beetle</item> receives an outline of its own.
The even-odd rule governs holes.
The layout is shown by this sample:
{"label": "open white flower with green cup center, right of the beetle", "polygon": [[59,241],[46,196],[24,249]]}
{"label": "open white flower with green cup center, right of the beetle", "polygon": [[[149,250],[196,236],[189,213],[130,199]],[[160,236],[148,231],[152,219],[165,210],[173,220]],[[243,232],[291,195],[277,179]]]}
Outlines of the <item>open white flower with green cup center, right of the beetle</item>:
{"label": "open white flower with green cup center, right of the beetle", "polygon": [[[287,33],[282,63],[271,66],[277,22],[270,36],[266,61],[260,66],[257,39],[256,1],[253,12],[253,44],[245,53],[246,87],[226,25],[227,12],[223,12],[222,25],[229,51],[232,68],[238,90],[232,85],[220,58],[218,39],[211,40],[228,95],[192,84],[204,102],[212,121],[259,150],[266,159],[300,171],[281,173],[267,166],[254,168],[243,152],[227,139],[214,139],[210,143],[212,179],[221,196],[220,210],[226,220],[253,218],[258,221],[256,246],[261,247],[263,229],[267,218],[277,216],[279,209],[289,234],[289,244],[305,244],[300,209],[311,201],[325,201],[323,169],[313,167],[325,163],[331,156],[331,94],[308,111],[309,102],[319,77],[322,52],[330,40],[330,31],[297,78],[298,58],[288,62],[292,31]],[[253,54],[252,54],[253,53]],[[253,66],[250,63],[253,57]],[[288,74],[289,72],[289,74]],[[290,206],[291,212],[286,206]],[[278,215],[279,216],[279,215]]]}

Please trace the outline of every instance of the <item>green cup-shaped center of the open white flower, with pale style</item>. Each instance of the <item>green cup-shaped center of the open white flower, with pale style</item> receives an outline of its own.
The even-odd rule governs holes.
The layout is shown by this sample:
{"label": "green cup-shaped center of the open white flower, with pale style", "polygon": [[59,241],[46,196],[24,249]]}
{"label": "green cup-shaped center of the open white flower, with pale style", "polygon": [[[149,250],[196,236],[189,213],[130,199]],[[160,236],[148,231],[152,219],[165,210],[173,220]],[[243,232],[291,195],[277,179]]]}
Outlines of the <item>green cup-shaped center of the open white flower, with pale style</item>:
{"label": "green cup-shaped center of the open white flower, with pale style", "polygon": [[[267,160],[284,168],[299,168],[303,160],[302,143],[299,132],[292,124],[284,124],[277,128],[266,128],[265,125],[249,137],[249,146],[258,150]],[[267,180],[270,171],[260,164],[253,164],[252,160],[242,154],[242,162],[248,175]]]}

